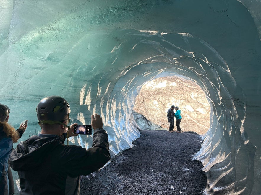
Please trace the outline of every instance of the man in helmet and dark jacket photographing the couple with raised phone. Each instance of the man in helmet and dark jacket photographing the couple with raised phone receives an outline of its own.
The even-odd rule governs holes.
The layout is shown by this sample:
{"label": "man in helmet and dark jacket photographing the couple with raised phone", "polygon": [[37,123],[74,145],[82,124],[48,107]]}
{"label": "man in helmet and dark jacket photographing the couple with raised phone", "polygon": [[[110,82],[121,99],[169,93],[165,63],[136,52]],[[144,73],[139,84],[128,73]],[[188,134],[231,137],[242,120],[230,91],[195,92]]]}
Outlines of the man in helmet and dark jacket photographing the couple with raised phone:
{"label": "man in helmet and dark jacket photographing the couple with raised phone", "polygon": [[[20,193],[79,194],[80,175],[97,171],[110,160],[108,135],[100,115],[91,115],[93,145],[86,150],[64,145],[66,136],[77,136],[72,132],[77,124],[69,127],[71,110],[64,98],[43,98],[36,112],[41,133],[20,142],[10,156],[11,167],[20,178]],[[72,182],[68,183],[68,178]]]}

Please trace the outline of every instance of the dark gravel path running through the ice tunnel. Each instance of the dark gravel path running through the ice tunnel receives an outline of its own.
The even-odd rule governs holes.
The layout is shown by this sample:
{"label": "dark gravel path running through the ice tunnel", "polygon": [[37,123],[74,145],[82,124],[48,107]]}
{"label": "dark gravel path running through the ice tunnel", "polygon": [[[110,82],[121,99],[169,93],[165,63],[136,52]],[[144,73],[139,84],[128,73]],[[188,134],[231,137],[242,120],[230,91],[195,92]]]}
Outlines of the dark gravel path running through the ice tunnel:
{"label": "dark gravel path running through the ice tunnel", "polygon": [[141,131],[141,137],[133,141],[136,146],[125,150],[95,177],[81,177],[80,194],[200,194],[207,178],[202,164],[191,160],[200,150],[200,141],[192,133]]}

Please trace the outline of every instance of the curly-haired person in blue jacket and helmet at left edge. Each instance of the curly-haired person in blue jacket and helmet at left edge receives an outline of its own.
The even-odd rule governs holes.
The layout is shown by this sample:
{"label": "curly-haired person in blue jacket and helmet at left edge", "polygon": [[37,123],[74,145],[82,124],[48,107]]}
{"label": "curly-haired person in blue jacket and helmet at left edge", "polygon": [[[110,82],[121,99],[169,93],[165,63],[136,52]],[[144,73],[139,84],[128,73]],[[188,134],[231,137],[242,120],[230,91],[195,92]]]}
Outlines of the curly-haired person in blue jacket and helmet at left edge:
{"label": "curly-haired person in blue jacket and helmet at left edge", "polygon": [[4,122],[7,115],[7,107],[0,104],[0,195],[9,194],[8,160],[13,143],[19,139],[17,131],[7,122]]}

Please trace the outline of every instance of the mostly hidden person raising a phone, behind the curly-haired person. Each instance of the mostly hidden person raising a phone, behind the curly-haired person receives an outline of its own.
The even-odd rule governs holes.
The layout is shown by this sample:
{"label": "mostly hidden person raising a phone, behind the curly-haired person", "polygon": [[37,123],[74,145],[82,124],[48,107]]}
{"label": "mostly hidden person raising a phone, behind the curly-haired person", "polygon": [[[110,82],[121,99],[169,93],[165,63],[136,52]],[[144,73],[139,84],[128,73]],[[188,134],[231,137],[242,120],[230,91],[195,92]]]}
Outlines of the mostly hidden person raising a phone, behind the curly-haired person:
{"label": "mostly hidden person raising a phone, behind the curly-haired person", "polygon": [[[7,118],[5,119],[4,122],[7,122],[9,121],[9,113],[11,112],[10,108],[5,105],[8,112],[7,112]],[[16,132],[18,133],[19,135],[19,138],[22,137],[22,135],[24,134],[26,128],[27,128],[27,123],[28,123],[28,120],[25,120],[25,124],[21,123],[20,127],[16,130]],[[13,150],[14,148],[12,148]],[[14,179],[13,179],[13,174],[12,174],[12,171],[11,171],[11,168],[10,168],[10,162],[8,160],[8,170],[7,170],[7,175],[8,175],[8,180],[9,180],[9,195],[13,195],[14,194]]]}

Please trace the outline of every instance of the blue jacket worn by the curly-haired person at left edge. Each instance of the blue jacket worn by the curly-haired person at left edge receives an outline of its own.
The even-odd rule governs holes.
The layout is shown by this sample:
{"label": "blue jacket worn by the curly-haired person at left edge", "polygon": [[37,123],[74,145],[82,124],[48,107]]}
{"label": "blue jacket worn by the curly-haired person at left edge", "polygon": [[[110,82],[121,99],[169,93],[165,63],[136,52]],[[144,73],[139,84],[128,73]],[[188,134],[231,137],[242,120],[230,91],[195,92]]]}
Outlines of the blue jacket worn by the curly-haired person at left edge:
{"label": "blue jacket worn by the curly-haired person at left edge", "polygon": [[13,141],[3,132],[0,126],[0,191],[8,194],[9,181],[7,176],[8,159],[13,148]]}

